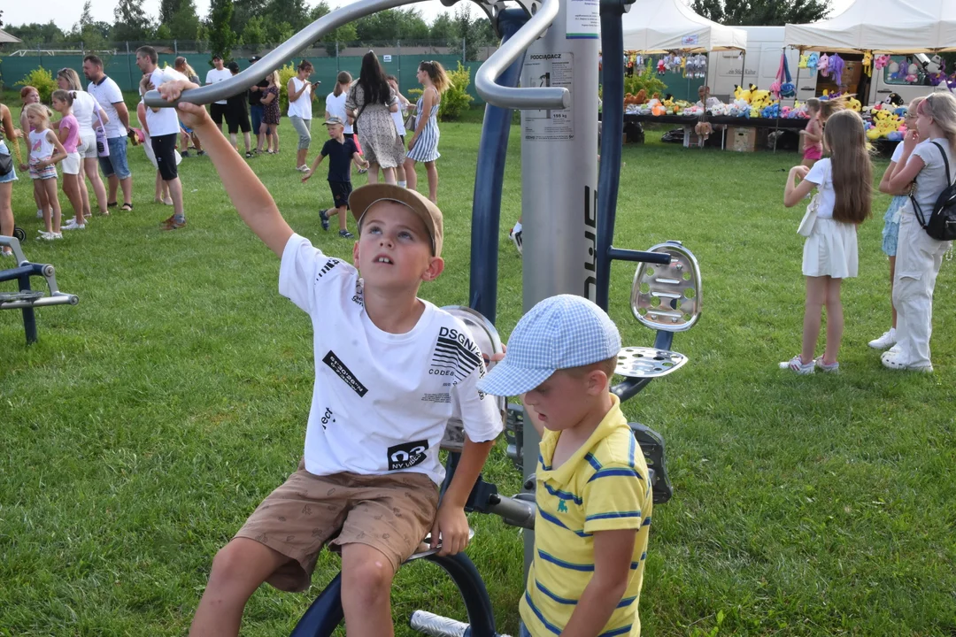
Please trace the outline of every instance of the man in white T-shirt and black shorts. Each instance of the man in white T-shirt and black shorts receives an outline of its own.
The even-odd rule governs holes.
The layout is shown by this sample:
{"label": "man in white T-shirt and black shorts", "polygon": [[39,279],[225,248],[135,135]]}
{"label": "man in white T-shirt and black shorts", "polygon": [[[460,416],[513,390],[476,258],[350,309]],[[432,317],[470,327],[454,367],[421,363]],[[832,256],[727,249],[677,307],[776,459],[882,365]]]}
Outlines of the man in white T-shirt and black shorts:
{"label": "man in white T-shirt and black shorts", "polygon": [[[160,88],[168,81],[188,78],[171,67],[161,69],[157,66],[159,56],[152,47],[140,47],[136,50],[136,65],[144,75],[150,75],[150,83]],[[183,182],[176,168],[176,139],[179,137],[179,117],[176,109],[146,107],[146,126],[156,155],[157,168],[163,181],[169,186],[169,196],[173,200],[173,216],[163,222],[163,230],[178,230],[185,226],[183,208]]]}

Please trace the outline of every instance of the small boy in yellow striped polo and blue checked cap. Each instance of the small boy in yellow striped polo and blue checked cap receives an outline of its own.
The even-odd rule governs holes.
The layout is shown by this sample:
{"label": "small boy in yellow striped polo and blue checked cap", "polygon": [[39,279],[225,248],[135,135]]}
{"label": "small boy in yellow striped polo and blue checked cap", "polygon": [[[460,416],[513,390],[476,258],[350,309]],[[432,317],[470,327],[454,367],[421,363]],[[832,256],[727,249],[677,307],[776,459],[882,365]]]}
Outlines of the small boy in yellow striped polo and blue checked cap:
{"label": "small boy in yellow striped polo and blue checked cap", "polygon": [[641,634],[651,485],[609,391],[619,351],[610,317],[562,294],[518,322],[504,360],[478,383],[484,393],[523,394],[541,435],[522,637]]}

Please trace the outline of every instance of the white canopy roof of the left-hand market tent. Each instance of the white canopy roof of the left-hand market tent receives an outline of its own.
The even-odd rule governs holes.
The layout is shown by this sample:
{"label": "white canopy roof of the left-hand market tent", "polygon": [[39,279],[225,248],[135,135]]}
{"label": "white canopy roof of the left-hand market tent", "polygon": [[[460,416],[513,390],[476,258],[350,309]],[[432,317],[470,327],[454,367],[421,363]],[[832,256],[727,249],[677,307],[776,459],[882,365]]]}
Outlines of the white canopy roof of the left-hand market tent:
{"label": "white canopy roof of the left-hand market tent", "polygon": [[[956,2],[956,0],[949,0]],[[636,0],[622,17],[624,51],[708,53],[747,50],[747,32],[690,11],[684,0]]]}

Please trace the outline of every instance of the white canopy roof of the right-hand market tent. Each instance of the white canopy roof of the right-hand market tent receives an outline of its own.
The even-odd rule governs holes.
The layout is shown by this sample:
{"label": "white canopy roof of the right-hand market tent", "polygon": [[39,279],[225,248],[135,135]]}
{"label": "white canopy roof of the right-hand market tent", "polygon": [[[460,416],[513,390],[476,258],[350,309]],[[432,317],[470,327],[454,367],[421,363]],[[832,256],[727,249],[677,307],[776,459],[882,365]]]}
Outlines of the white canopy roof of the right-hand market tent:
{"label": "white canopy roof of the right-hand market tent", "polygon": [[956,0],[857,0],[812,24],[789,24],[784,44],[828,53],[956,51]]}

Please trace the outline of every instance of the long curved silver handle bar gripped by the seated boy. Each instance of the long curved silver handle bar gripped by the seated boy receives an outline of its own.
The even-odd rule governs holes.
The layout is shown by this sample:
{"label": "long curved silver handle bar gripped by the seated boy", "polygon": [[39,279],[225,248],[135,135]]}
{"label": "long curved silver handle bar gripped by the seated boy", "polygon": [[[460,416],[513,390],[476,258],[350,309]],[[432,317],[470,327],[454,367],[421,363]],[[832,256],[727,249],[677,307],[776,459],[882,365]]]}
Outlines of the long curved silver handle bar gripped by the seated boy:
{"label": "long curved silver handle bar gripped by the seated boy", "polygon": [[[215,101],[226,99],[227,97],[237,95],[247,91],[262,80],[268,74],[282,66],[283,62],[291,59],[296,53],[309,47],[323,35],[331,32],[343,24],[358,20],[364,15],[382,11],[385,9],[394,9],[404,5],[411,5],[424,0],[358,0],[350,5],[341,7],[330,13],[326,13],[311,25],[300,32],[295,33],[291,38],[268,53],[261,60],[250,66],[240,74],[234,75],[222,82],[202,86],[198,89],[184,91],[179,99],[167,102],[160,96],[159,91],[150,91],[144,97],[146,106],[152,108],[162,108],[164,106],[176,106],[179,102],[188,102],[190,104],[211,104]],[[557,0],[554,0],[556,5]],[[556,11],[556,10],[555,10]]]}

